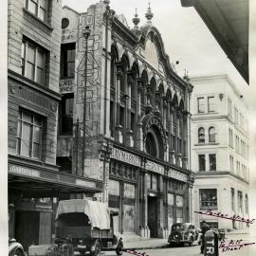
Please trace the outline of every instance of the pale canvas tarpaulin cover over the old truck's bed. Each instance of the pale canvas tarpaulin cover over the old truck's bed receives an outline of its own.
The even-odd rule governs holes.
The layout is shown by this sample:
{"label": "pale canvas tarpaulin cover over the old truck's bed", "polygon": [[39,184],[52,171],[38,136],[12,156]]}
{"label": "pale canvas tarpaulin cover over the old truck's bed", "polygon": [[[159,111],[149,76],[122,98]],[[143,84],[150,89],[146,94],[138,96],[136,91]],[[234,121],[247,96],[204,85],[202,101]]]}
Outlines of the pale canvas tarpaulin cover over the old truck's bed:
{"label": "pale canvas tarpaulin cover over the old truck's bed", "polygon": [[110,229],[110,215],[107,205],[97,201],[85,199],[70,199],[59,202],[56,220],[61,214],[83,212],[91,222],[92,229]]}

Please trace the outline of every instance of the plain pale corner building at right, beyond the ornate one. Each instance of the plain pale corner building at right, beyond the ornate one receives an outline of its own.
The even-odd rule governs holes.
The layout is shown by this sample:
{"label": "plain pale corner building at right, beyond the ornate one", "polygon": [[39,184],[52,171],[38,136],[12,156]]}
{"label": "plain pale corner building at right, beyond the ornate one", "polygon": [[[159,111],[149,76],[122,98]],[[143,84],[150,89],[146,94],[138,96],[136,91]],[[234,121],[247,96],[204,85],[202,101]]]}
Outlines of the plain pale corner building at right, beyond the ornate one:
{"label": "plain pale corner building at right, beyond the ornate one", "polygon": [[[243,95],[227,75],[191,79],[194,210],[248,217],[248,119]],[[242,229],[239,221],[194,215],[196,224]]]}

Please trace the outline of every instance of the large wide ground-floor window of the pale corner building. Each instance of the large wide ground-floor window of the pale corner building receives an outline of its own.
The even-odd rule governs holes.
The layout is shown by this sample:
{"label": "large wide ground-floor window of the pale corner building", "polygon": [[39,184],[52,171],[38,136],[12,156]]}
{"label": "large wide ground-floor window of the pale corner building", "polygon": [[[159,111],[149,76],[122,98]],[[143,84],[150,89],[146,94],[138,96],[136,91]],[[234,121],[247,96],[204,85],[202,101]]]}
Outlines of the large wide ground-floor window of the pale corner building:
{"label": "large wide ground-floor window of the pale corner building", "polygon": [[217,190],[199,190],[200,209],[217,209]]}

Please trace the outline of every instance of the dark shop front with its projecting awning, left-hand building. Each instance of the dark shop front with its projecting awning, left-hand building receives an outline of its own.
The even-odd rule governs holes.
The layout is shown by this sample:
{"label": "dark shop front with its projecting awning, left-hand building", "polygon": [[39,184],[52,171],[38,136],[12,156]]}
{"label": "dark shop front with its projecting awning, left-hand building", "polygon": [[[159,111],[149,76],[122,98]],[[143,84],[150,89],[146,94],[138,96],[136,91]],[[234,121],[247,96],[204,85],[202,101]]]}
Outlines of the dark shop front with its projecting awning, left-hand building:
{"label": "dark shop front with its projecting awning, left-hand building", "polygon": [[103,182],[58,172],[50,165],[9,156],[9,237],[27,251],[54,238],[54,216],[60,199],[72,193],[102,192]]}

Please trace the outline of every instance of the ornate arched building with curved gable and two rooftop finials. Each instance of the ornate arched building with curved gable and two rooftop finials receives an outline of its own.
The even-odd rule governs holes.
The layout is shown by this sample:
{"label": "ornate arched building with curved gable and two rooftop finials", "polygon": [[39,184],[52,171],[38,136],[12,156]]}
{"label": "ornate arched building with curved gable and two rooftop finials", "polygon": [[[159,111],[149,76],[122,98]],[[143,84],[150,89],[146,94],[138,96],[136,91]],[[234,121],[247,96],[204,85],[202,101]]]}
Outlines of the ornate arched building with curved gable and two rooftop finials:
{"label": "ornate arched building with curved gable and two rooftop finials", "polygon": [[163,237],[191,218],[192,85],[172,69],[150,8],[146,18],[130,28],[106,0],[64,7],[57,162],[104,182],[85,196],[119,211],[116,232]]}

